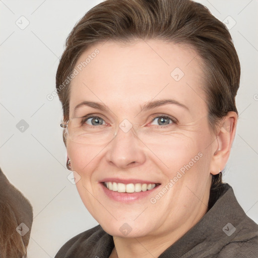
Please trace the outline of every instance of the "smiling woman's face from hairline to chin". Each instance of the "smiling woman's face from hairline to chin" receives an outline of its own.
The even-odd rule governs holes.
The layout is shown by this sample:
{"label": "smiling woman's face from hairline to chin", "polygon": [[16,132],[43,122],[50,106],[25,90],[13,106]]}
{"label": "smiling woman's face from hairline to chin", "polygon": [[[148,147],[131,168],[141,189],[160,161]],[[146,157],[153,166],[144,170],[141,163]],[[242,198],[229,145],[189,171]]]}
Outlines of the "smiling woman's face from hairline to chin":
{"label": "smiling woman's face from hairline to chin", "polygon": [[189,46],[159,40],[98,43],[79,58],[70,118],[91,118],[67,151],[109,234],[184,232],[206,213],[216,137],[201,64]]}

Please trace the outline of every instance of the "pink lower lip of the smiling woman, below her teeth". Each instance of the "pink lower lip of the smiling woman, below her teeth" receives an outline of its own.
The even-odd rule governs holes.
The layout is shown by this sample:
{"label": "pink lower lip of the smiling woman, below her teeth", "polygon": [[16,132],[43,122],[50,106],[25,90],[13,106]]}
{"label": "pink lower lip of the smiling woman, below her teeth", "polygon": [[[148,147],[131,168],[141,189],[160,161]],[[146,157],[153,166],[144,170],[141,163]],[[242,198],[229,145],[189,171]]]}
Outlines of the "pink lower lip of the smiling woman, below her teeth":
{"label": "pink lower lip of the smiling woman, below her teeth", "polygon": [[160,185],[155,186],[151,190],[140,192],[118,192],[109,190],[103,183],[101,186],[108,198],[121,203],[133,203],[141,199],[147,198],[149,195],[153,195],[153,190],[157,189]]}

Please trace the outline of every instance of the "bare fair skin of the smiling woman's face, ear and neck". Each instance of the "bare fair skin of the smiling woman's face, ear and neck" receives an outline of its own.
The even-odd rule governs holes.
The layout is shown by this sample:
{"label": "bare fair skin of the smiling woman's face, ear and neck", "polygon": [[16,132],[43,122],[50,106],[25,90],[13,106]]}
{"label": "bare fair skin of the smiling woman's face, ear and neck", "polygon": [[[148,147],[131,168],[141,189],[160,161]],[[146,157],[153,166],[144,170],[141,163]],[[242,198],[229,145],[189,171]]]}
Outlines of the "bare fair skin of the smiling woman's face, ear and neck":
{"label": "bare fair skin of the smiling woman's face, ear and neck", "polygon": [[[212,174],[228,160],[237,115],[229,112],[217,132],[212,131],[201,89],[203,62],[187,45],[108,41],[91,46],[77,64],[96,48],[100,53],[72,81],[70,118],[97,113],[109,124],[105,130],[112,128],[116,136],[108,144],[80,144],[67,138],[72,169],[81,176],[76,185],[86,208],[114,238],[110,257],[158,257],[207,212]],[[184,73],[178,82],[170,76],[175,68]],[[146,103],[161,99],[176,100],[187,108],[165,104],[142,110]],[[83,101],[102,103],[109,111],[83,106],[75,112]],[[177,122],[160,125],[154,118],[161,115]],[[133,125],[127,133],[118,127],[124,119]],[[150,198],[198,153],[202,157],[152,204]],[[146,198],[122,203],[104,193],[100,181],[105,177],[160,185]],[[126,236],[119,230],[124,223],[132,229]]]}

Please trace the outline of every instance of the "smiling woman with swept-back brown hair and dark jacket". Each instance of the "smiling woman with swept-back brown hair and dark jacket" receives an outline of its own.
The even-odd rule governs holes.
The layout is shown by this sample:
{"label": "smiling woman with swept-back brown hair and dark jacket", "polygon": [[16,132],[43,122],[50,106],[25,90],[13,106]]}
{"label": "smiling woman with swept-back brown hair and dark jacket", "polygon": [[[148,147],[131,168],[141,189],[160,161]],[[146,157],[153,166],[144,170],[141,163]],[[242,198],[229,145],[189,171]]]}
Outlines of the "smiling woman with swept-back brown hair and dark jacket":
{"label": "smiling woman with swept-back brown hair and dark jacket", "polygon": [[67,39],[56,74],[68,169],[99,226],[58,257],[257,257],[257,225],[221,171],[240,64],[191,1],[107,0]]}

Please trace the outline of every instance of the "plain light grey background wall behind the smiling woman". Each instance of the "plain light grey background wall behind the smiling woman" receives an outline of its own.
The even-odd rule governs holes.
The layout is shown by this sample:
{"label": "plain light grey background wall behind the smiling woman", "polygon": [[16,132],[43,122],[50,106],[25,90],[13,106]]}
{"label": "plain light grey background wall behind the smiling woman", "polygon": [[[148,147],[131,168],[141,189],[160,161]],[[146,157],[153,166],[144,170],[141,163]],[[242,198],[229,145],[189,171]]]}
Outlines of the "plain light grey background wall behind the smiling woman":
{"label": "plain light grey background wall behind the smiling woman", "polygon": [[[53,257],[72,236],[97,225],[67,179],[61,105],[58,97],[49,101],[46,96],[55,89],[66,37],[100,2],[0,0],[0,166],[34,209],[29,258]],[[233,186],[246,214],[258,222],[258,2],[199,2],[228,26],[236,22],[230,32],[242,69],[239,120],[224,181]]]}

